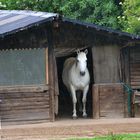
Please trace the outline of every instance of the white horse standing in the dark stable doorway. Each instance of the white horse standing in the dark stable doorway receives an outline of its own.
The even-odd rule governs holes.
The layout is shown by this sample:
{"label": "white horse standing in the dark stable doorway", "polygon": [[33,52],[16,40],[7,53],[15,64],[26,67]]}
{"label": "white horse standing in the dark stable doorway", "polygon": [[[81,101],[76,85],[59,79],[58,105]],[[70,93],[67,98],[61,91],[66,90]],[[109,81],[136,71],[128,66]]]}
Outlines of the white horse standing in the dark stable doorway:
{"label": "white horse standing in the dark stable doorway", "polygon": [[[73,118],[77,118],[76,113],[76,91],[83,92],[83,117],[87,117],[86,113],[86,97],[89,89],[90,75],[87,69],[87,49],[84,52],[77,51],[77,57],[70,57],[64,63],[62,72],[63,83],[71,93],[73,101]],[[77,92],[79,94],[79,92]],[[78,97],[78,96],[77,96]]]}

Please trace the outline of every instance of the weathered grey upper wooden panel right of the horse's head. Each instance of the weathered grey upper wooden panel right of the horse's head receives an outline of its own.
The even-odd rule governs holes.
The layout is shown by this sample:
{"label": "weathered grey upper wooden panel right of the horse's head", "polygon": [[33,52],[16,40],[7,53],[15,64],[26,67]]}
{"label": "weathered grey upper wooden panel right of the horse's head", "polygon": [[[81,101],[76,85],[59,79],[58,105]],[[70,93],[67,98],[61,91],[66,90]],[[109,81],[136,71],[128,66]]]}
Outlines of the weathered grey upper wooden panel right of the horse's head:
{"label": "weathered grey upper wooden panel right of the horse's head", "polygon": [[119,76],[119,46],[93,46],[94,83],[117,83]]}

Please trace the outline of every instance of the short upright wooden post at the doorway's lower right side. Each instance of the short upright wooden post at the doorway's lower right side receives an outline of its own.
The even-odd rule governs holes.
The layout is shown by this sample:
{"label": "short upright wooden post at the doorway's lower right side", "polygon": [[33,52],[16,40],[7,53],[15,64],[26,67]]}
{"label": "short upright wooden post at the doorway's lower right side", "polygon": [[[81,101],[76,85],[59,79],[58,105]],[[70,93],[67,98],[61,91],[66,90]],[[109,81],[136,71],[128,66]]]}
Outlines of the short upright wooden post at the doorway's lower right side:
{"label": "short upright wooden post at the doorway's lower right side", "polygon": [[99,103],[99,85],[92,86],[92,97],[93,97],[93,118],[100,118],[100,103]]}

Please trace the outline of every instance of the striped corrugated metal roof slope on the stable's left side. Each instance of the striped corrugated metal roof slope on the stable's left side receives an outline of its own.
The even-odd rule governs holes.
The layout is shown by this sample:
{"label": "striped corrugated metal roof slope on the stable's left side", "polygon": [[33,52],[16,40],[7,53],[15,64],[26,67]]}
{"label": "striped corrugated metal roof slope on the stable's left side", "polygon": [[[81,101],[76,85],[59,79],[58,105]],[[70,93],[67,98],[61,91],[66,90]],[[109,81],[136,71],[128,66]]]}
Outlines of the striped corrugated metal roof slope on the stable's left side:
{"label": "striped corrugated metal roof slope on the stable's left side", "polygon": [[0,10],[0,37],[52,20],[58,14],[25,10]]}

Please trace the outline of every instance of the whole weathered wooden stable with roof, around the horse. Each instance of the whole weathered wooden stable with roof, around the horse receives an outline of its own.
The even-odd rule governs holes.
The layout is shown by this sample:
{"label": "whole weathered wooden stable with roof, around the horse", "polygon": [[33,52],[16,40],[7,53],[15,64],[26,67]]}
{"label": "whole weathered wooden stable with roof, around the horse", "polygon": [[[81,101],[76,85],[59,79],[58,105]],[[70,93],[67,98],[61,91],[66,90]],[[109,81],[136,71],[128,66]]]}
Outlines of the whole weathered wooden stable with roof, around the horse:
{"label": "whole weathered wooden stable with roof, around the horse", "polygon": [[0,13],[2,122],[71,118],[71,99],[62,83],[62,68],[66,58],[85,48],[91,77],[89,117],[130,116],[124,84],[140,89],[140,37],[52,13]]}

